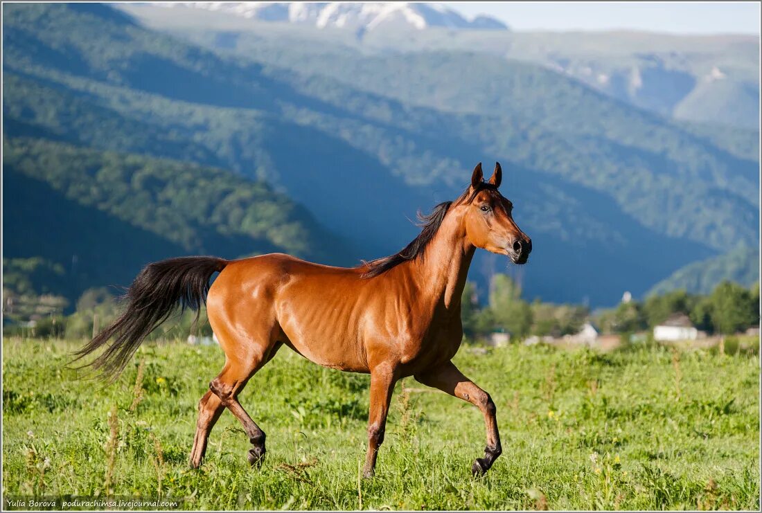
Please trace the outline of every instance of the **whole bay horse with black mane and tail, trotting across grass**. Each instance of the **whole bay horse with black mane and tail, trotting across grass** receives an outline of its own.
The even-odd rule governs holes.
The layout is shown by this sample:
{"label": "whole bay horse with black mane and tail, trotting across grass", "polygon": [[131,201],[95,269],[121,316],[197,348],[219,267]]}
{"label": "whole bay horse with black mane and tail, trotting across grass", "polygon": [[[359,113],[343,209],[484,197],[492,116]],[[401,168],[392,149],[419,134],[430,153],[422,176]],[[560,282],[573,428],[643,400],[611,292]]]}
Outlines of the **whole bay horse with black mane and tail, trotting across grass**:
{"label": "whole bay horse with black mane and tail, trotting across grass", "polygon": [[[123,314],[75,355],[82,358],[106,346],[88,365],[114,380],[143,339],[178,306],[198,310],[206,301],[226,361],[198,404],[191,467],[201,464],[210,430],[226,408],[253,446],[249,463],[261,464],[264,431],[238,397],[255,372],[288,346],[319,365],[370,373],[364,476],[373,476],[395,383],[408,376],[482,411],[487,446],[472,465],[472,473],[480,476],[502,452],[495,403],[450,359],[463,338],[460,300],[475,249],[507,255],[517,264],[526,263],[532,250],[532,241],[513,220],[511,202],[498,192],[501,177],[498,163],[485,181],[479,163],[458,199],[421,216],[421,234],[407,247],[354,268],[282,253],[151,263],[127,290]],[[210,287],[215,272],[219,276]]]}

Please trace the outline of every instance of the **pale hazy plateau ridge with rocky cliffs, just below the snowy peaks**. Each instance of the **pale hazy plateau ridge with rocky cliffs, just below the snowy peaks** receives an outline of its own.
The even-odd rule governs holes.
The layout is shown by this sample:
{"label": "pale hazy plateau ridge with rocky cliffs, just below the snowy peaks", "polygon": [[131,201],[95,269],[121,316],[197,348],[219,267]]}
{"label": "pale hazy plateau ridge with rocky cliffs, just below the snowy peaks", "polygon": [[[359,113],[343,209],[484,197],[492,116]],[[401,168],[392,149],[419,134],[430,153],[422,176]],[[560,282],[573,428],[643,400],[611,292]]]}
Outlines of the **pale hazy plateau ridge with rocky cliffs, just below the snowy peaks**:
{"label": "pale hazy plateau ridge with rocky cliffs, just below the snowy peaks", "polygon": [[475,30],[478,23],[474,20],[472,27],[459,30],[431,26],[408,30],[404,37],[398,30],[372,30],[357,37],[354,30],[272,24],[221,11],[142,5],[120,8],[151,27],[184,31],[190,37],[214,31],[219,43],[228,46],[242,35],[255,35],[260,40],[303,40],[315,51],[335,43],[366,55],[438,51],[531,62],[661,116],[759,129],[760,49],[759,38],[754,36]]}

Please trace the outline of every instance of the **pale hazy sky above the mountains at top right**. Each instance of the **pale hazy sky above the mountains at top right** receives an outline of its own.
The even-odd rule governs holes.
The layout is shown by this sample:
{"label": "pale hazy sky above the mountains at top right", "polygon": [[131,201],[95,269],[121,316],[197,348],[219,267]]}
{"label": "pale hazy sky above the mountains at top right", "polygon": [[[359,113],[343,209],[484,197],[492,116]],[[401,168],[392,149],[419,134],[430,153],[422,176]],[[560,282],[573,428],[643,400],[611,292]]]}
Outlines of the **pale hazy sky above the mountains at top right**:
{"label": "pale hazy sky above the mountains at top right", "polygon": [[757,2],[453,2],[514,30],[635,29],[673,33],[760,33]]}

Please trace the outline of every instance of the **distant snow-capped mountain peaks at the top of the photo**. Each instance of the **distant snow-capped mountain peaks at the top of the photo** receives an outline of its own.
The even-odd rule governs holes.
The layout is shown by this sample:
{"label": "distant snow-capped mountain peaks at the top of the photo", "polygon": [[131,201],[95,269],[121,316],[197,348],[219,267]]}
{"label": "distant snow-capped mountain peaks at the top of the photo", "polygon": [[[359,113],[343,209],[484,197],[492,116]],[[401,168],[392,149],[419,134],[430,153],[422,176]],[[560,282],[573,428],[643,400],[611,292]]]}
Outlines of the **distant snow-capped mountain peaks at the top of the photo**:
{"label": "distant snow-capped mountain peaks at the top of the photo", "polygon": [[257,21],[333,27],[366,33],[371,30],[450,29],[505,30],[488,16],[469,21],[445,5],[415,2],[165,2],[166,8],[195,8]]}

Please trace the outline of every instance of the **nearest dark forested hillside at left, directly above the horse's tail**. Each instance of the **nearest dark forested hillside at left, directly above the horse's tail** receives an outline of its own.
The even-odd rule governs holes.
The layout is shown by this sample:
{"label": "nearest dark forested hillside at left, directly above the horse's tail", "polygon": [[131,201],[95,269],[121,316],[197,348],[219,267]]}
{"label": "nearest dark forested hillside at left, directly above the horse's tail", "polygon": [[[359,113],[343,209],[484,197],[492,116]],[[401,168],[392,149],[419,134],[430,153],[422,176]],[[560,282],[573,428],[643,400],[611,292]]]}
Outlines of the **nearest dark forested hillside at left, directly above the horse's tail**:
{"label": "nearest dark forested hillside at left, directly above the horse's tail", "polygon": [[[4,268],[13,277],[4,285],[14,292],[75,299],[184,254],[353,262],[303,207],[228,171],[40,139],[6,139],[3,155]],[[38,277],[24,283],[19,259],[34,257],[46,265],[27,269]]]}

